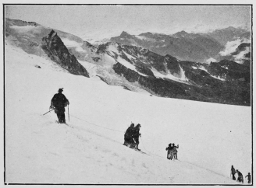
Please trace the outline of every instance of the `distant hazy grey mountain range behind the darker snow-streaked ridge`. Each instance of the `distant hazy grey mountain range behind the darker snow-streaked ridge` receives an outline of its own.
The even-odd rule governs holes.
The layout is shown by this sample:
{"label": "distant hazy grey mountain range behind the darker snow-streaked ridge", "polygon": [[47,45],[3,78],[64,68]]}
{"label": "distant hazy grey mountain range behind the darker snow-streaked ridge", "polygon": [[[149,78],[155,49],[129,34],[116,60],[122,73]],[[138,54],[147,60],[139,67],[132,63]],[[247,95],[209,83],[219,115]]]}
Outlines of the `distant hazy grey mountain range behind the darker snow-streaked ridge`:
{"label": "distant hazy grey mountain range behind the darker snow-streaked ridge", "polygon": [[214,30],[212,33],[180,31],[172,35],[149,32],[130,35],[123,31],[119,37],[112,37],[110,41],[144,47],[157,54],[169,54],[183,61],[205,63],[211,57],[222,60],[219,52],[225,48],[228,41],[240,38],[249,40],[250,34],[247,30],[231,26],[223,30]]}

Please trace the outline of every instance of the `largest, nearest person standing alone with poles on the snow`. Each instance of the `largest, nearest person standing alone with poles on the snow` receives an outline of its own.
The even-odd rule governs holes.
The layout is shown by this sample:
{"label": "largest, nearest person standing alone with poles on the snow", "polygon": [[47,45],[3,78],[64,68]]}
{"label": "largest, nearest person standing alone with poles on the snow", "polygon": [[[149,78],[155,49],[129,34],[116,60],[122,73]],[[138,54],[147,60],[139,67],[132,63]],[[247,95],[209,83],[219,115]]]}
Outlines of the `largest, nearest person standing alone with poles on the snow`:
{"label": "largest, nearest person standing alone with poles on the snow", "polygon": [[65,120],[65,106],[69,105],[69,100],[66,99],[66,96],[62,94],[63,89],[59,89],[58,93],[56,93],[52,97],[50,108],[55,109],[55,113],[59,119],[60,124],[66,124]]}

